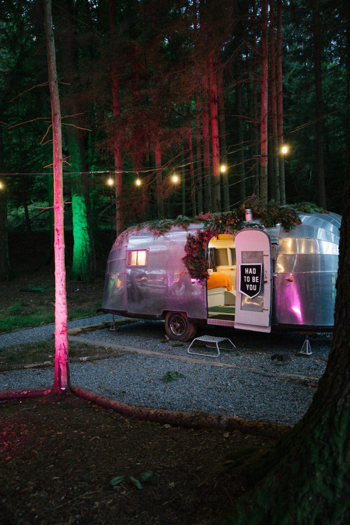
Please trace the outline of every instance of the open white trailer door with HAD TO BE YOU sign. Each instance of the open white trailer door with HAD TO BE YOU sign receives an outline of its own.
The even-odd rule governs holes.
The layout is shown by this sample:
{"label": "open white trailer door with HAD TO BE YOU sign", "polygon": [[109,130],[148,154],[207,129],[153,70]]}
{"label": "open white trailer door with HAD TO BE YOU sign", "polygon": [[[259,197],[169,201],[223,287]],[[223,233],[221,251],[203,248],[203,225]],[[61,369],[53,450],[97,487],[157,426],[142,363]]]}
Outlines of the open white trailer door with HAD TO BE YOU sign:
{"label": "open white trailer door with HAD TO BE YOU sign", "polygon": [[271,331],[271,240],[261,229],[240,230],[236,245],[235,328]]}

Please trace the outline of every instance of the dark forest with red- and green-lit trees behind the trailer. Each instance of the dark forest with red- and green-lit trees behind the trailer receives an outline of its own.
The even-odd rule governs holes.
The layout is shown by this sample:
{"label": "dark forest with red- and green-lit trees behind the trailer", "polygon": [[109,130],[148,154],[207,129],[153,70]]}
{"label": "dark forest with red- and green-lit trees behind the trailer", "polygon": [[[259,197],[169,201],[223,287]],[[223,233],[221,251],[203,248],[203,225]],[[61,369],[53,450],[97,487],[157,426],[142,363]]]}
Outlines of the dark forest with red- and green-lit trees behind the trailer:
{"label": "dark forest with red- and green-lit trees behind the trailer", "polygon": [[[43,5],[0,6],[4,254],[13,230],[52,231],[53,188]],[[93,276],[101,229],[225,212],[251,195],[341,213],[345,0],[60,0],[52,9],[71,277]],[[8,278],[4,261],[0,274]]]}

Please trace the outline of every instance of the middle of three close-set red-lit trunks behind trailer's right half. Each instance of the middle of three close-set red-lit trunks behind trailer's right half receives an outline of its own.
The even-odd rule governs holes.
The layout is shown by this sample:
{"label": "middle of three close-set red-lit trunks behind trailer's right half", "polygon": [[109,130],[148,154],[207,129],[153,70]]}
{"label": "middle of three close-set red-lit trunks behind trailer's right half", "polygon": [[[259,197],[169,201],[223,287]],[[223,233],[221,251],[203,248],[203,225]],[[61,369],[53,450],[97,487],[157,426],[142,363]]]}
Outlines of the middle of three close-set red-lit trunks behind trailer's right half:
{"label": "middle of three close-set red-lit trunks behind trailer's right half", "polygon": [[272,167],[273,199],[280,204],[280,169],[278,158],[278,123],[277,123],[277,89],[276,89],[276,56],[274,37],[274,0],[270,0],[270,55],[271,55],[271,115],[272,115]]}

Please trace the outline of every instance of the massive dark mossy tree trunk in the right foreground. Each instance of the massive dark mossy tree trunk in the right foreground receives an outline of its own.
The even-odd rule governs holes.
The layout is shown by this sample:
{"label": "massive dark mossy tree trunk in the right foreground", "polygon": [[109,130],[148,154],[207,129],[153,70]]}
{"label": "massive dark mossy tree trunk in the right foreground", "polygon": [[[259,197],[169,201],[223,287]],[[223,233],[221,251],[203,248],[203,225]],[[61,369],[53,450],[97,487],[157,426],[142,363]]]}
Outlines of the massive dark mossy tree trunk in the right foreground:
{"label": "massive dark mossy tree trunk in the right foreground", "polygon": [[[256,488],[222,525],[347,525],[350,522],[350,141],[343,197],[333,342],[301,421],[250,467]],[[283,504],[281,503],[283,502]]]}

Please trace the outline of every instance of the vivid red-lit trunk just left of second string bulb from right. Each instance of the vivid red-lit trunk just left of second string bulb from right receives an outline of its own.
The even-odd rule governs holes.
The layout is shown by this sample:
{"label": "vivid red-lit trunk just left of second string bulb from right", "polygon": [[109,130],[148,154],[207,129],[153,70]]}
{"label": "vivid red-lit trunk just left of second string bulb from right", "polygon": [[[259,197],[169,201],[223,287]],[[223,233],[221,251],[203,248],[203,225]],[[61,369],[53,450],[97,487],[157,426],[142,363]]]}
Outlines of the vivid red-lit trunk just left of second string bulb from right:
{"label": "vivid red-lit trunk just left of second string bulb from right", "polygon": [[213,204],[214,212],[221,211],[220,190],[220,148],[218,123],[218,88],[214,69],[214,51],[209,53],[209,84],[210,84],[210,122],[211,122],[211,150],[213,164]]}

